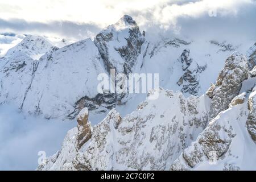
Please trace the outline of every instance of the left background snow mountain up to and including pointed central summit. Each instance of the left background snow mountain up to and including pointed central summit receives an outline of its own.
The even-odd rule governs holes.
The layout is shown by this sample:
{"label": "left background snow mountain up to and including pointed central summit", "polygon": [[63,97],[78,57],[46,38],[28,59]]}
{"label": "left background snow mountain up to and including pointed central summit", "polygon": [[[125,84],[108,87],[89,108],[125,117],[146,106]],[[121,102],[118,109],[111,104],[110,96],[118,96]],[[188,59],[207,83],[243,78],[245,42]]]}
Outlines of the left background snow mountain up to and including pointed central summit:
{"label": "left background snow mountain up to and including pointed central summit", "polygon": [[[108,35],[111,36],[106,39]],[[137,24],[127,15],[100,32],[94,42],[86,39],[59,49],[43,37],[27,36],[1,60],[1,65],[16,63],[16,57],[27,56],[16,63],[15,68],[28,69],[22,73],[6,73],[10,69],[8,64],[2,69],[3,75],[11,75],[10,78],[2,76],[2,82],[24,87],[18,96],[7,96],[12,85],[4,85],[0,92],[2,103],[13,102],[25,113],[43,114],[46,118],[73,118],[84,106],[106,112],[117,104],[118,97],[99,94],[97,76],[109,74],[110,65],[117,72],[131,72],[143,42]],[[28,62],[33,62],[34,67],[25,67]],[[23,73],[26,74],[23,76]],[[22,83],[15,83],[17,79]]]}

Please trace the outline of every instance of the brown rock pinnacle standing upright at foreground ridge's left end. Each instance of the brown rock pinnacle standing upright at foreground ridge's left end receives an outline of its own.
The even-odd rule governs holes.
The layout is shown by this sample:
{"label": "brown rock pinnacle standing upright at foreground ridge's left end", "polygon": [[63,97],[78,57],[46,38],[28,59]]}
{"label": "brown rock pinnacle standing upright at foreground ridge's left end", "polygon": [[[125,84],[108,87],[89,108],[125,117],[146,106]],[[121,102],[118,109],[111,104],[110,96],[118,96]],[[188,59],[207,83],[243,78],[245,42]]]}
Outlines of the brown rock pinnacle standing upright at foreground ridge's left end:
{"label": "brown rock pinnacle standing upright at foreground ridge's left end", "polygon": [[77,137],[76,137],[76,147],[79,150],[85,142],[87,142],[92,137],[92,132],[90,130],[91,126],[88,123],[89,111],[85,107],[77,115]]}

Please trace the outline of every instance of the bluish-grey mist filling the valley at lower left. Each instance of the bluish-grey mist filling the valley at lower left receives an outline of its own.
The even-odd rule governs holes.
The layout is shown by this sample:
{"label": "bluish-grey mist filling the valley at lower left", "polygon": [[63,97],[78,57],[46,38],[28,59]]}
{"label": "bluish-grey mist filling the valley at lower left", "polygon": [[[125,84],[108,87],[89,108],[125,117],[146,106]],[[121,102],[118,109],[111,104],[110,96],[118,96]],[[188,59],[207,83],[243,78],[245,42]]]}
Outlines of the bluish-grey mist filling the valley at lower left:
{"label": "bluish-grey mist filling the valley at lower left", "polygon": [[0,170],[34,170],[38,152],[55,154],[76,122],[24,117],[10,105],[0,106]]}

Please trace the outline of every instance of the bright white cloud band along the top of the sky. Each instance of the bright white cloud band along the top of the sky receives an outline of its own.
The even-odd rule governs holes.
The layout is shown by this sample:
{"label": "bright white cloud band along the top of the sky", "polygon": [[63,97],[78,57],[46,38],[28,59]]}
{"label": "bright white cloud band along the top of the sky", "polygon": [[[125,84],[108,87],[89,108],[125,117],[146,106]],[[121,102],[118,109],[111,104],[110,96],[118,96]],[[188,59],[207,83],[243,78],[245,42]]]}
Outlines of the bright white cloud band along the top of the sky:
{"label": "bright white cloud band along the top of the sky", "polygon": [[[0,0],[0,17],[44,23],[67,20],[105,27],[117,22],[123,14],[135,14],[141,24],[154,21],[168,26],[180,16],[197,17],[212,9],[221,15],[236,14],[241,5],[250,3],[253,0]],[[149,19],[145,19],[147,15]]]}

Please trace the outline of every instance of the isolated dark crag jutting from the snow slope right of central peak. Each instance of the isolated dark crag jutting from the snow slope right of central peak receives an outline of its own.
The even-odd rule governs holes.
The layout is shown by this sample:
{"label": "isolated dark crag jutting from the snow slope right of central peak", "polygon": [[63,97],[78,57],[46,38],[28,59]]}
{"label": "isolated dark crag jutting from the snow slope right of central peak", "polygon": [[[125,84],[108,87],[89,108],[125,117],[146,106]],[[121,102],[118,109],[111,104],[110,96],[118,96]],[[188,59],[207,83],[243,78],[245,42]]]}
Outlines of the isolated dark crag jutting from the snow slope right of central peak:
{"label": "isolated dark crag jutting from the snow slope right of central peak", "polygon": [[206,65],[200,67],[192,58],[189,56],[190,51],[185,49],[181,54],[178,61],[182,64],[182,70],[184,71],[183,76],[180,77],[177,84],[182,85],[181,92],[197,95],[199,90],[199,73],[202,73]]}

